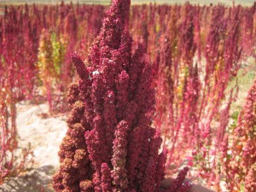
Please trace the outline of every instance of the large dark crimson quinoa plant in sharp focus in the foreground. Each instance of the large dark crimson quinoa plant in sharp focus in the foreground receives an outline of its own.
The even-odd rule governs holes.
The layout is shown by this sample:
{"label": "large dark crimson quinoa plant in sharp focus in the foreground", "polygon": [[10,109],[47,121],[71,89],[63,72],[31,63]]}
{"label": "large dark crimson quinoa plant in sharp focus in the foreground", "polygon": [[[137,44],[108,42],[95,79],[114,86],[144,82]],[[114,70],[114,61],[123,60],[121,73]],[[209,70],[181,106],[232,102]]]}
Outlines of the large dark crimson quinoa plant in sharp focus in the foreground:
{"label": "large dark crimson quinoa plant in sharp focus in the foreground", "polygon": [[[69,129],[59,152],[56,191],[160,191],[166,152],[151,127],[154,90],[142,45],[131,53],[129,0],[115,0],[84,63],[72,59],[79,83],[72,84]],[[183,179],[167,191],[187,191]]]}

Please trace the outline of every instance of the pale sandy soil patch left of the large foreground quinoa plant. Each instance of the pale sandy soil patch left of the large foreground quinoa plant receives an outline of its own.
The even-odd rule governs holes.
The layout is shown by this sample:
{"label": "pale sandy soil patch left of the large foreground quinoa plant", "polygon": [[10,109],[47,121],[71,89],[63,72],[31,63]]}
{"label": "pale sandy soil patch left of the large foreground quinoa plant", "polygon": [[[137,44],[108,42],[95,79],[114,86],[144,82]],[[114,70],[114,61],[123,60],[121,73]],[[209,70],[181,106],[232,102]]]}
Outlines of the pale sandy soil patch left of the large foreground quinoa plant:
{"label": "pale sandy soil patch left of the large foreground quinoa plant", "polygon": [[31,144],[35,162],[26,172],[5,181],[3,186],[0,186],[1,192],[54,191],[51,187],[51,177],[59,166],[58,151],[67,131],[67,115],[45,118],[43,114],[47,112],[46,103],[17,104],[19,145],[24,148]]}

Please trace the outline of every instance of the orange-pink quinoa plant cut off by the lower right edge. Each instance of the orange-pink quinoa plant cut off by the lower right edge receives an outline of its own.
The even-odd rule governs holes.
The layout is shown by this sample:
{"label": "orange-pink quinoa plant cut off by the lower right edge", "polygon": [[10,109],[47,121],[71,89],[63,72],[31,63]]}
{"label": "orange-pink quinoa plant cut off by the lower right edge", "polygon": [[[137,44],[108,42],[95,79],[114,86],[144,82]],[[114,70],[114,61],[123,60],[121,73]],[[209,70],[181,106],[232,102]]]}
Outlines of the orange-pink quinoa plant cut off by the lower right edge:
{"label": "orange-pink quinoa plant cut off by the lower right edge", "polygon": [[247,100],[237,119],[236,128],[230,135],[230,146],[223,152],[230,154],[224,159],[226,183],[230,191],[244,188],[256,190],[256,81],[248,90]]}

